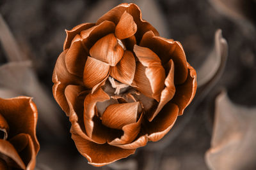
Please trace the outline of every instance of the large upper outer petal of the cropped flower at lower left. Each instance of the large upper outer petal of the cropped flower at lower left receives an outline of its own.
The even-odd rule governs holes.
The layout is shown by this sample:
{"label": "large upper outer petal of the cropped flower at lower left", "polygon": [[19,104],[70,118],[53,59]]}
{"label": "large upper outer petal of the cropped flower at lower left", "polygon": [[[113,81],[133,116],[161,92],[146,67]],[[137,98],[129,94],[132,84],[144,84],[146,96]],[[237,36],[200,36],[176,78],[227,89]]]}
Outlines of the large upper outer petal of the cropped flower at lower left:
{"label": "large upper outer petal of the cropped flower at lower left", "polygon": [[0,113],[9,126],[12,127],[8,138],[12,138],[20,133],[29,134],[37,153],[39,150],[39,143],[36,139],[37,110],[31,97],[0,98]]}

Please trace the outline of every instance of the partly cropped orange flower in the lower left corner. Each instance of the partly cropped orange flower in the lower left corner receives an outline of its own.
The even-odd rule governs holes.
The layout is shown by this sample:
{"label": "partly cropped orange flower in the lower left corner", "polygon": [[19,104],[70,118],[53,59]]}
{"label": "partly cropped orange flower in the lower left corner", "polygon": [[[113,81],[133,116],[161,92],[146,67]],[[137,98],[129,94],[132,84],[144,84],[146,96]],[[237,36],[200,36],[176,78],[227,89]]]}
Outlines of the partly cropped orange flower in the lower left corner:
{"label": "partly cropped orange flower in the lower left corner", "polygon": [[0,169],[34,169],[36,105],[31,97],[0,98]]}

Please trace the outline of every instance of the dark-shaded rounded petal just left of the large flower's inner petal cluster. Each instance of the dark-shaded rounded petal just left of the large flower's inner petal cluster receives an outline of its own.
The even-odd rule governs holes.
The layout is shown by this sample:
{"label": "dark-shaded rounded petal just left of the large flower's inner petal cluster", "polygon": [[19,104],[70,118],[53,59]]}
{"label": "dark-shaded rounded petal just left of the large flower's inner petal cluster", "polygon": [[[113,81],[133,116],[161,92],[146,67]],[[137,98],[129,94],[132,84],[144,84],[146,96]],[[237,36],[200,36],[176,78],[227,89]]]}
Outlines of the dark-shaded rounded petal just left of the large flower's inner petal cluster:
{"label": "dark-shaded rounded petal just left of the large flower's inner petal cluster", "polygon": [[82,77],[87,56],[88,52],[84,49],[81,41],[74,42],[68,49],[65,57],[68,72]]}

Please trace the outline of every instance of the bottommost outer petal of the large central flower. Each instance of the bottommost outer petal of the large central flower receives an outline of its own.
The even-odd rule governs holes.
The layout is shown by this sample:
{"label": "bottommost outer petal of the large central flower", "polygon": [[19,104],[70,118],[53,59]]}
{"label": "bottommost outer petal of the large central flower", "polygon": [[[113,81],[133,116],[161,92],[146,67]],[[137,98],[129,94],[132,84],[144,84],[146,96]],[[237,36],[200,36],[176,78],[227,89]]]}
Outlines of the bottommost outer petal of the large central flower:
{"label": "bottommost outer petal of the large central flower", "polygon": [[116,146],[106,144],[99,145],[86,139],[72,134],[72,139],[75,141],[77,150],[88,159],[89,164],[93,166],[104,166],[115,162],[118,159],[128,157],[135,150],[125,150]]}

